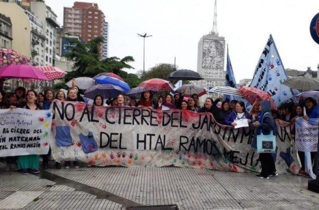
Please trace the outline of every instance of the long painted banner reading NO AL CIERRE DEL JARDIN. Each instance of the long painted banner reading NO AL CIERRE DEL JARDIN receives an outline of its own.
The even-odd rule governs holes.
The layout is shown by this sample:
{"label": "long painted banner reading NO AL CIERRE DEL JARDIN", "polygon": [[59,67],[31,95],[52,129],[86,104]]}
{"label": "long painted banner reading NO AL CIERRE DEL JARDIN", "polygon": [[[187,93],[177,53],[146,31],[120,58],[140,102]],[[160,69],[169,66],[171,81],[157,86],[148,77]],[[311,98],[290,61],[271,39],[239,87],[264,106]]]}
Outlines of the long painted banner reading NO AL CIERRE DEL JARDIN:
{"label": "long painted banner reading NO AL CIERRE DEL JARDIN", "polygon": [[[260,171],[259,154],[250,146],[254,130],[218,124],[211,113],[60,101],[51,108],[52,155],[59,162]],[[283,125],[278,123],[276,167],[298,173],[292,125]]]}

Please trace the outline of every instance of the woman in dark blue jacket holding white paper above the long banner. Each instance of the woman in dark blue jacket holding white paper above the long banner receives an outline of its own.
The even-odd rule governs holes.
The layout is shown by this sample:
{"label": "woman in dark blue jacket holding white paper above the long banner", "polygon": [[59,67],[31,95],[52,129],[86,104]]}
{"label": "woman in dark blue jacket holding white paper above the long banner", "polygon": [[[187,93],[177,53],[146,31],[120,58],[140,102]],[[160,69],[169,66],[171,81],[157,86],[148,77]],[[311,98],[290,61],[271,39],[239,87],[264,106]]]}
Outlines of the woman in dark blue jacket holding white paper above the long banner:
{"label": "woman in dark blue jacket holding white paper above the long banner", "polygon": [[225,124],[233,125],[235,128],[239,127],[239,124],[241,124],[241,127],[248,127],[248,123],[251,122],[251,119],[251,115],[246,111],[245,103],[239,101],[236,103],[235,110],[230,112],[226,117]]}

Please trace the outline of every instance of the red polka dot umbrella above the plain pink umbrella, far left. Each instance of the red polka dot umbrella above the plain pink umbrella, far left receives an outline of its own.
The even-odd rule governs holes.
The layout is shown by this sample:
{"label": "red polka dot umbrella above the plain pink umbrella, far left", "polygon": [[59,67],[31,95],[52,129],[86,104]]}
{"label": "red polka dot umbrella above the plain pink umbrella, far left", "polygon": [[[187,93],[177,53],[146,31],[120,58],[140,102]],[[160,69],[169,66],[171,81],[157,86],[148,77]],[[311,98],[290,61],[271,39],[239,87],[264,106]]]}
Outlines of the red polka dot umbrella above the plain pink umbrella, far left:
{"label": "red polka dot umbrella above the plain pink umbrella, far left", "polygon": [[13,49],[0,48],[0,69],[7,65],[28,64],[30,59]]}

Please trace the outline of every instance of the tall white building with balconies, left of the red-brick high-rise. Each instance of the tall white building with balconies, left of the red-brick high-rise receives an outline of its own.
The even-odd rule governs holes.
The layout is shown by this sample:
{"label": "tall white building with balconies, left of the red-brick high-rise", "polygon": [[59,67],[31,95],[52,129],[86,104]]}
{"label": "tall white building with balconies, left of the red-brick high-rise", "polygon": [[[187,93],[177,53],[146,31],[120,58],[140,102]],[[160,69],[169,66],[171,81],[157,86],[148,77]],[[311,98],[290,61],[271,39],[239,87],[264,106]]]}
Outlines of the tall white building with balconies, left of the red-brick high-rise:
{"label": "tall white building with balconies, left of the red-brick high-rise", "polygon": [[32,1],[30,4],[31,12],[36,15],[43,24],[45,33],[44,65],[55,65],[55,36],[56,28],[59,23],[56,20],[57,15],[51,8],[41,1]]}

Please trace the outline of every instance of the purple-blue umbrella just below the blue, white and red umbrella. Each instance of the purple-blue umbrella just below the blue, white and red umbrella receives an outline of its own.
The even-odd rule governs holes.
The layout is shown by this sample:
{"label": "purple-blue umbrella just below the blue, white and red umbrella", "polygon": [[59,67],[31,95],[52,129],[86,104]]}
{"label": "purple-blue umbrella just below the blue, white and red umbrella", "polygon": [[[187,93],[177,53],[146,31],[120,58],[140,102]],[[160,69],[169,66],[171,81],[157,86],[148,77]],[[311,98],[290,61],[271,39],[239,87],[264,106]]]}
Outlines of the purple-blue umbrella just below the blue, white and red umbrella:
{"label": "purple-blue umbrella just below the blue, white and red umbrella", "polygon": [[117,97],[119,94],[123,93],[124,90],[116,85],[111,84],[98,84],[88,88],[84,92],[84,97],[89,99],[94,99],[95,96],[101,95],[104,99]]}

